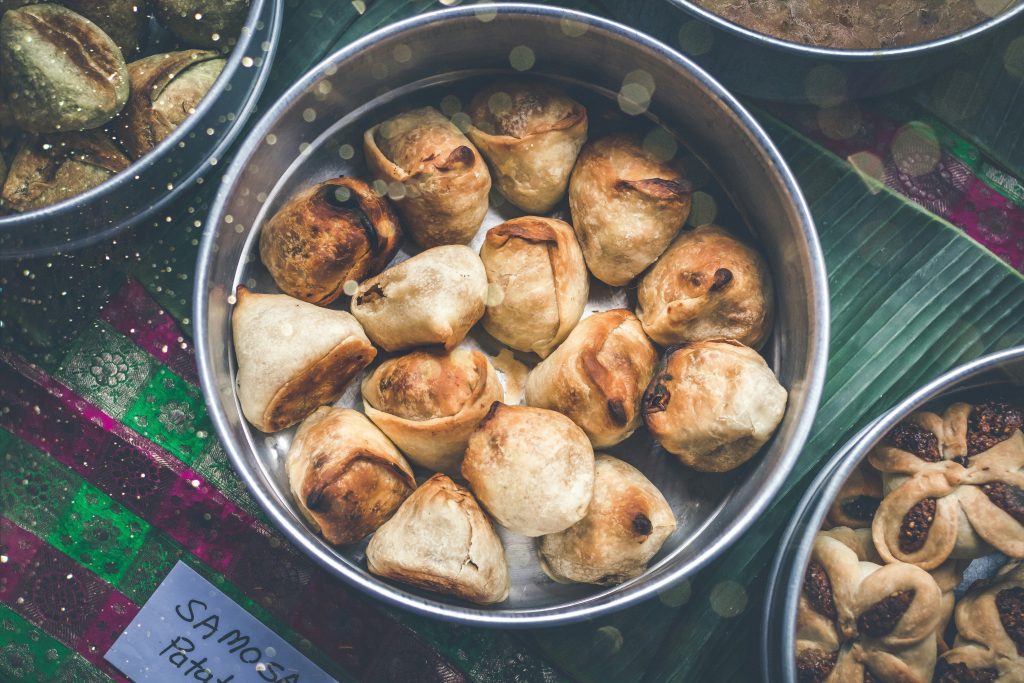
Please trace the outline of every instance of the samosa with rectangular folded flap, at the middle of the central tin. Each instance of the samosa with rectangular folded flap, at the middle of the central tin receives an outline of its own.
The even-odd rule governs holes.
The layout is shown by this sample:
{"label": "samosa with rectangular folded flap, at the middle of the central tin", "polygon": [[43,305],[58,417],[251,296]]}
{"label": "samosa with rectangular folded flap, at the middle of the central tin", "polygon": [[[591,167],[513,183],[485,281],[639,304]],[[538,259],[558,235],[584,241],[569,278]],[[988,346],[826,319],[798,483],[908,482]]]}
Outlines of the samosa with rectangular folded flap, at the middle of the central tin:
{"label": "samosa with rectangular folded flap, at the middle of the central tin", "polygon": [[483,329],[506,346],[547,357],[580,322],[590,291],[572,226],[513,218],[487,230],[480,260],[493,301]]}

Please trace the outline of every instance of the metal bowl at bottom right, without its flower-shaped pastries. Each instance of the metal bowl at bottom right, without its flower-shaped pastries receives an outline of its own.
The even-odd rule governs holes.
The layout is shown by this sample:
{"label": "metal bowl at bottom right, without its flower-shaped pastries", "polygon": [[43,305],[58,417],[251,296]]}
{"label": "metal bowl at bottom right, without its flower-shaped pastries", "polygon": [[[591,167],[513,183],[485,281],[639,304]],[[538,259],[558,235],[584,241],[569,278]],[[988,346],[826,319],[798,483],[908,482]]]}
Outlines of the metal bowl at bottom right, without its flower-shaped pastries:
{"label": "metal bowl at bottom right, without its flower-shaped pastries", "polygon": [[[943,410],[955,400],[971,401],[986,390],[1011,388],[1024,395],[1024,346],[983,356],[933,380],[854,436],[808,487],[782,536],[768,579],[762,630],[762,668],[768,681],[793,682],[796,672],[797,604],[814,537],[831,502],[857,465],[890,429],[919,410]],[[977,560],[976,563],[991,563]],[[978,567],[972,565],[971,572]]]}

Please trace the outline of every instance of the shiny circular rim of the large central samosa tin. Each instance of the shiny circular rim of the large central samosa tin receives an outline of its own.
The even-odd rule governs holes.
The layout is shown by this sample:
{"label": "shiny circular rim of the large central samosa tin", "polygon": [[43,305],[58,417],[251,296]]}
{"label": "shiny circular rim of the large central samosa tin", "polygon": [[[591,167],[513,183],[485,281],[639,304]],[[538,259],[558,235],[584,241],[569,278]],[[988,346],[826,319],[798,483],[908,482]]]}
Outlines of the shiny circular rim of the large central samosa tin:
{"label": "shiny circular rim of the large central samosa tin", "polygon": [[595,16],[585,12],[565,9],[561,7],[527,4],[527,3],[500,3],[500,4],[476,4],[465,7],[451,7],[434,10],[420,14],[411,18],[388,25],[373,33],[354,41],[353,43],[337,50],[327,56],[318,65],[310,69],[299,78],[295,84],[279,98],[252,127],[251,131],[243,140],[230,167],[225,173],[225,178],[238,177],[243,167],[248,163],[253,153],[262,144],[264,136],[274,125],[280,115],[291,105],[291,103],[301,96],[316,81],[324,78],[327,72],[332,69],[332,65],[337,65],[354,54],[360,52],[368,46],[386,37],[400,34],[404,31],[421,28],[435,22],[446,19],[457,19],[472,16],[484,15],[517,15],[537,16],[547,19],[575,20],[588,27],[588,30],[603,31],[606,34],[618,35],[629,40],[638,47],[648,50],[673,62],[676,67],[687,71],[708,92],[709,96],[720,100],[724,106],[729,109],[743,124],[746,131],[767,157],[771,164],[771,170],[778,174],[786,193],[793,202],[794,209],[800,221],[800,229],[805,240],[808,252],[810,272],[809,279],[812,283],[810,296],[813,299],[810,303],[813,308],[813,315],[817,318],[817,327],[812,330],[808,339],[808,366],[809,372],[806,378],[806,398],[804,413],[797,417],[794,425],[794,436],[790,447],[783,454],[778,466],[772,471],[764,481],[762,490],[765,492],[757,501],[733,520],[729,529],[716,538],[713,543],[705,547],[697,557],[690,562],[667,569],[656,580],[635,584],[623,589],[612,596],[598,598],[597,602],[581,605],[580,602],[592,600],[592,597],[582,598],[565,605],[553,607],[530,608],[522,613],[516,610],[504,612],[488,611],[485,609],[468,606],[465,604],[455,604],[446,602],[442,596],[425,598],[421,595],[407,592],[393,584],[386,584],[375,577],[362,575],[366,570],[354,570],[343,563],[335,560],[328,552],[319,547],[309,529],[293,519],[293,515],[284,514],[278,509],[276,503],[264,494],[259,485],[260,474],[251,469],[246,463],[243,455],[243,445],[236,442],[230,436],[230,428],[225,412],[220,402],[220,397],[216,390],[217,381],[212,370],[211,352],[207,345],[208,335],[207,297],[210,291],[209,263],[213,259],[214,238],[220,226],[220,215],[223,212],[230,197],[231,183],[221,184],[216,198],[214,199],[210,212],[207,216],[204,234],[200,244],[198,259],[198,269],[195,285],[194,303],[194,325],[196,327],[196,350],[199,366],[200,381],[203,389],[203,396],[207,402],[210,418],[214,423],[218,435],[222,438],[225,451],[234,469],[245,481],[249,490],[256,498],[259,505],[274,521],[278,528],[296,546],[298,546],[313,561],[335,575],[340,575],[350,586],[356,588],[374,598],[380,599],[389,605],[401,607],[412,612],[440,618],[444,621],[458,622],[473,626],[492,628],[529,628],[538,626],[554,626],[579,622],[591,618],[599,614],[609,613],[617,609],[635,604],[640,600],[651,597],[659,592],[671,588],[676,583],[691,575],[705,567],[714,558],[720,555],[731,546],[750,526],[759,518],[768,505],[772,502],[775,494],[781,487],[795,466],[800,452],[810,433],[811,425],[817,413],[817,407],[821,398],[821,391],[824,385],[825,368],[827,362],[828,347],[828,285],[824,267],[824,256],[818,242],[814,222],[811,218],[810,210],[804,200],[803,195],[786,166],[780,153],[774,143],[765,133],[760,124],[746,111],[739,101],[725,90],[707,72],[696,66],[689,58],[683,56],[676,50],[668,47],[664,43],[629,27],[616,22]]}

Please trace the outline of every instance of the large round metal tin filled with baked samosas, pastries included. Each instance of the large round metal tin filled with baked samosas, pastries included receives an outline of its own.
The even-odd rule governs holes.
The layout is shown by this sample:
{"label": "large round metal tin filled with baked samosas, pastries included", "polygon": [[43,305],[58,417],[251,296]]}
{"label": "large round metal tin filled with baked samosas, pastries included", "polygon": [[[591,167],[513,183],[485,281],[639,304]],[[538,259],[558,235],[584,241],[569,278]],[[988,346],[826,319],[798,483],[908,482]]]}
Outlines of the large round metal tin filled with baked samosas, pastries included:
{"label": "large round metal tin filled with baked samosas, pastries included", "polygon": [[783,162],[624,27],[476,5],[329,57],[207,225],[210,415],[350,584],[466,622],[583,618],[742,533],[803,444],[827,295]]}

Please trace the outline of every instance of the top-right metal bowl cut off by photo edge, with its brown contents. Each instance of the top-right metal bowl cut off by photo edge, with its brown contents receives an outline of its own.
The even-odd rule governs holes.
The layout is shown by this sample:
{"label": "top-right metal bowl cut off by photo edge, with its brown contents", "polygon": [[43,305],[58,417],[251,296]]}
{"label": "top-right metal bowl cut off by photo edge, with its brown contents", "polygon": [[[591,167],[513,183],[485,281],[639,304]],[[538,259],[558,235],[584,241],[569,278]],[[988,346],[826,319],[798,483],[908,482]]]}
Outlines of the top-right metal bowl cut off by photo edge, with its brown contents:
{"label": "top-right metal bowl cut off by photo edge, with its brown contents", "polygon": [[669,0],[684,51],[733,90],[833,104],[886,94],[1020,31],[1019,0]]}

